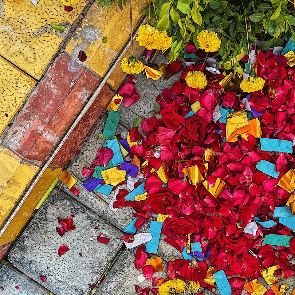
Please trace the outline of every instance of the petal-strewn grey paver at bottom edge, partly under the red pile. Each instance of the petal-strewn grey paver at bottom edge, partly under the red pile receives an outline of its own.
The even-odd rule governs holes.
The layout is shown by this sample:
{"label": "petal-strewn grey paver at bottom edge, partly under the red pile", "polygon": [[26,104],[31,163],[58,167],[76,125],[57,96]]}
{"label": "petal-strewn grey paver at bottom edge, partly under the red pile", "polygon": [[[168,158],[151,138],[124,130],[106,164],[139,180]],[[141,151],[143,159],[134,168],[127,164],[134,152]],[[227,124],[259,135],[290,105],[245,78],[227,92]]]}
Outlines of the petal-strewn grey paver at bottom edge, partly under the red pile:
{"label": "petal-strewn grey paver at bottom edge, partly under the red pile", "polygon": [[[136,249],[124,250],[116,264],[98,287],[95,295],[134,295],[136,294],[134,285],[138,285],[141,288],[157,288],[152,287],[152,281],[147,281],[141,269],[135,269],[135,252]],[[165,262],[163,262],[163,265],[164,272],[155,273],[154,276],[167,278],[167,265]]]}

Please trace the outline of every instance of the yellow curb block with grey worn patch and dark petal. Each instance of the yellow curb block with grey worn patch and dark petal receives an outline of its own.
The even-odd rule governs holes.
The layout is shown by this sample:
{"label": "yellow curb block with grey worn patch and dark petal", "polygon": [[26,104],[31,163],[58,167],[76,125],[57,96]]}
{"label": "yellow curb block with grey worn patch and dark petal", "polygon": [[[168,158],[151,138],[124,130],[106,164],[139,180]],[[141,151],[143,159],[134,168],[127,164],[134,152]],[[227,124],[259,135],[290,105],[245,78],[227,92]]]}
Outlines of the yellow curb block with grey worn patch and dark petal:
{"label": "yellow curb block with grey worn patch and dark petal", "polygon": [[[107,14],[107,7],[98,6],[97,2],[94,2],[66,47],[76,58],[79,51],[83,50],[87,55],[84,64],[101,77],[104,77],[130,37],[129,1],[126,3],[123,11],[114,3]],[[139,0],[132,3],[133,28],[136,28],[143,18],[140,11],[147,6],[148,1]],[[103,37],[107,37],[104,44],[101,42]]]}

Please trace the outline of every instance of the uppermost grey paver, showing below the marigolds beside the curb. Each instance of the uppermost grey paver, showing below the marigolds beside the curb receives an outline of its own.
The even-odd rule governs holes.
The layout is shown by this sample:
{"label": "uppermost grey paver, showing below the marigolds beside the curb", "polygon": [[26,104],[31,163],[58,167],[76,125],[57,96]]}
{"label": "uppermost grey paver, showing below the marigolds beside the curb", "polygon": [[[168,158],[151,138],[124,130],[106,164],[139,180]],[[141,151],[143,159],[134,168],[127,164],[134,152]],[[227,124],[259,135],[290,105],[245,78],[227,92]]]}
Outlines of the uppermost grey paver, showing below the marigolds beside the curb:
{"label": "uppermost grey paver, showing below the marigolds beside the curb", "polygon": [[[155,63],[160,65],[161,63],[166,63],[167,59],[162,54],[159,54]],[[170,77],[168,80],[164,80],[163,76],[157,81],[153,81],[152,79],[147,79],[145,73],[140,73],[138,75],[134,75],[137,79],[137,83],[135,84],[135,88],[137,93],[140,95],[140,100],[135,104],[132,104],[129,108],[126,108],[124,104],[121,104],[118,112],[122,114],[120,121],[127,128],[132,128],[134,120],[137,116],[134,114],[148,118],[151,116],[149,114],[150,111],[154,109],[154,105],[156,102],[156,97],[159,95],[159,92],[162,93],[164,88],[171,88],[175,81],[179,80],[181,73],[177,73],[176,75]],[[158,90],[159,91],[158,91]],[[132,113],[134,112],[134,113]]]}

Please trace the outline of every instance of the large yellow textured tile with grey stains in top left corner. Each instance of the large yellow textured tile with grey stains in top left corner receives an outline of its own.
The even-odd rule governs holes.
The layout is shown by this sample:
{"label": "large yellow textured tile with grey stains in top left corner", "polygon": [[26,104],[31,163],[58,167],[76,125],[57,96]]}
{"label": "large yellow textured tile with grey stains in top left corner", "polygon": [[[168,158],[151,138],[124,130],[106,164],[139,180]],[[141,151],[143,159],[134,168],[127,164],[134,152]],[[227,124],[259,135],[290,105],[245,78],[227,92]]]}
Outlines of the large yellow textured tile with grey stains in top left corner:
{"label": "large yellow textured tile with grey stains in top left corner", "polygon": [[61,0],[0,2],[0,54],[39,79],[67,32],[53,30],[48,24],[69,27],[87,4],[80,0],[66,12]]}

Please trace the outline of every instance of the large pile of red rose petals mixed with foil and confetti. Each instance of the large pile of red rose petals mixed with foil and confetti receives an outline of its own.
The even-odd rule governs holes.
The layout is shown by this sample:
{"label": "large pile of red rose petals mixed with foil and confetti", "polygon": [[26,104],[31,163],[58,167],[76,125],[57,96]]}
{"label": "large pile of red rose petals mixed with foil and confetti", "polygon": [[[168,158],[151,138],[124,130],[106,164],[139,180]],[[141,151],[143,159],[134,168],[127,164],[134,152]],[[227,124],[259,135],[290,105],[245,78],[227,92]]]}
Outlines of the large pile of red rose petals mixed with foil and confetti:
{"label": "large pile of red rose petals mixed with foil and confetti", "polygon": [[[134,138],[131,141],[138,143],[132,146],[132,154],[140,159],[141,164],[148,161],[142,168],[148,195],[146,200],[125,201],[126,192],[121,189],[114,207],[131,206],[136,211],[133,217],[138,217],[137,229],[151,219],[156,220],[152,214],[168,214],[162,234],[166,236],[165,241],[179,252],[183,251],[187,234],[192,233],[191,242],[201,243],[208,259],[193,264],[184,259],[170,261],[168,279],[199,281],[202,287],[212,289],[204,282],[211,265],[216,270],[224,270],[228,277],[236,277],[229,282],[232,289],[237,290],[235,294],[240,294],[246,280],[261,276],[259,272],[272,265],[280,265],[284,278],[294,274],[295,265],[290,266],[288,262],[295,257],[295,238],[291,239],[290,247],[262,246],[266,234],[293,236],[292,230],[280,223],[269,229],[258,224],[253,237],[243,233],[243,229],[254,217],[262,221],[272,219],[274,208],[285,206],[290,194],[277,183],[282,175],[295,167],[295,158],[291,154],[261,151],[259,139],[251,135],[248,141],[239,136],[236,142],[226,142],[226,124],[214,123],[214,108],[223,103],[234,111],[241,110],[245,108],[242,99],[247,94],[225,92],[219,85],[224,76],[205,69],[206,89],[189,88],[185,82],[187,72],[200,69],[201,65],[188,66],[180,81],[171,89],[163,90],[157,97],[160,110],[141,122],[143,135],[137,128],[132,128],[130,134]],[[294,141],[295,69],[287,65],[285,57],[267,51],[258,54],[257,71],[257,76],[263,77],[266,83],[264,89],[251,94],[250,106],[257,112],[264,112],[259,117],[262,137]],[[274,80],[275,98],[268,95],[269,80]],[[129,82],[121,92],[132,97],[132,89],[132,82]],[[136,99],[132,98],[133,101]],[[198,100],[200,110],[185,119],[191,110],[190,105]],[[130,104],[129,98],[124,104]],[[190,184],[183,173],[185,165],[201,163],[207,149],[214,151],[214,161],[208,164],[206,176],[209,186],[213,186],[217,178],[226,183],[226,189],[216,198],[201,183]],[[159,152],[160,156],[155,157]],[[256,163],[262,159],[276,163],[280,172],[277,179],[256,169]],[[163,161],[169,168],[167,184],[156,174]],[[199,170],[204,172],[202,164]],[[276,218],[273,220],[277,221]],[[136,269],[144,267],[147,257],[144,247],[137,250]],[[138,288],[138,292],[142,289]]]}

